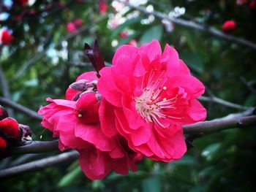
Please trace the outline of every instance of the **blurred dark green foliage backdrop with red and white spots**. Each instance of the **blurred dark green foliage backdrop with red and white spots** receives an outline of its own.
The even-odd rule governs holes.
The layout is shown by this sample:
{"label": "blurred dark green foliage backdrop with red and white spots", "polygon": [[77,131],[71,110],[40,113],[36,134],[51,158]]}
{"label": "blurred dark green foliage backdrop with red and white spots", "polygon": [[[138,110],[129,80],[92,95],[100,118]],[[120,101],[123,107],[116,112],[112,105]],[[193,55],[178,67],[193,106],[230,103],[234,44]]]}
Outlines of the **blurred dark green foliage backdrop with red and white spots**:
{"label": "blurred dark green foliage backdrop with red and white spots", "polygon": [[[227,41],[173,20],[192,21],[256,43],[255,0],[23,1],[0,6],[0,96],[37,111],[45,98],[64,98],[70,83],[93,70],[83,53],[85,42],[99,41],[111,64],[123,44],[140,46],[158,39],[178,50],[193,75],[206,85],[204,96],[241,105],[227,107],[203,99],[208,120],[243,112],[256,104],[255,48]],[[135,8],[134,8],[135,7]],[[136,7],[143,7],[144,11]],[[146,13],[148,12],[148,13]],[[27,124],[34,140],[52,140],[38,120],[10,110]],[[184,158],[161,163],[143,158],[138,172],[111,173],[91,181],[78,161],[0,180],[1,191],[255,191],[256,127],[230,129],[195,140]],[[39,159],[54,153],[43,153]],[[19,156],[0,161],[0,167]]]}

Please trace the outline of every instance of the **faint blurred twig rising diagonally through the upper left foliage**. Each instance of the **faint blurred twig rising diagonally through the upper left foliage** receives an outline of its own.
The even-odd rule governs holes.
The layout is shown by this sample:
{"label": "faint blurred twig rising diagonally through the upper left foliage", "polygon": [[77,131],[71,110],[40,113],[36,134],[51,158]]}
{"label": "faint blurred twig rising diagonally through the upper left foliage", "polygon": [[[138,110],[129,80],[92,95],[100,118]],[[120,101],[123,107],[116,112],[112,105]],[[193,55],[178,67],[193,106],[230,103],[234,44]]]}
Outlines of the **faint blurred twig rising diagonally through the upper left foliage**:
{"label": "faint blurred twig rising diagonally through the upper left foliage", "polygon": [[[102,20],[104,20],[106,17],[100,18],[98,20],[95,20],[95,22],[93,23],[94,25],[97,23],[100,23]],[[86,26],[81,28],[79,31],[77,31],[76,33],[73,34],[68,34],[66,37],[64,37],[63,39],[61,39],[58,43],[56,43],[56,45],[53,45],[53,47],[58,47],[61,45],[61,42],[63,41],[67,41],[69,39],[72,39],[73,37],[75,37],[76,35],[83,33],[84,31],[87,31],[91,28],[91,26]],[[18,80],[18,78],[24,73],[26,72],[26,69],[28,69],[31,65],[33,65],[34,63],[36,63],[37,61],[39,61],[50,49],[51,45],[49,45],[48,47],[45,48],[45,50],[43,50],[41,53],[37,53],[34,58],[31,58],[28,62],[26,62],[26,64],[23,64],[23,66],[20,67],[20,69],[18,69],[18,72],[14,75],[14,77],[12,78],[12,81]]]}

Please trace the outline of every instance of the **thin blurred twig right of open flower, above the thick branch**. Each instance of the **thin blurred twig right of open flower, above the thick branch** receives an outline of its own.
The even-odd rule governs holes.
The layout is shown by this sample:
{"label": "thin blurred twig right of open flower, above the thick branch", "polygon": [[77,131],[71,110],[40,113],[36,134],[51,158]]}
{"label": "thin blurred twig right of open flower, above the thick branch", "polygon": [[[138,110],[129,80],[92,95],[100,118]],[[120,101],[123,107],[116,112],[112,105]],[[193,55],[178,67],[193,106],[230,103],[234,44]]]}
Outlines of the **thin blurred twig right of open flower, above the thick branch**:
{"label": "thin blurred twig right of open flower, above the thick branch", "polygon": [[200,100],[200,101],[209,101],[209,102],[214,102],[214,103],[217,103],[217,104],[222,104],[226,107],[230,107],[230,108],[237,109],[237,110],[249,110],[249,109],[253,108],[253,107],[246,107],[246,106],[243,106],[243,105],[240,105],[240,104],[234,104],[234,103],[231,103],[230,101],[225,101],[223,99],[219,99],[216,96],[211,96],[211,97],[201,96],[200,98],[198,98],[198,100]]}

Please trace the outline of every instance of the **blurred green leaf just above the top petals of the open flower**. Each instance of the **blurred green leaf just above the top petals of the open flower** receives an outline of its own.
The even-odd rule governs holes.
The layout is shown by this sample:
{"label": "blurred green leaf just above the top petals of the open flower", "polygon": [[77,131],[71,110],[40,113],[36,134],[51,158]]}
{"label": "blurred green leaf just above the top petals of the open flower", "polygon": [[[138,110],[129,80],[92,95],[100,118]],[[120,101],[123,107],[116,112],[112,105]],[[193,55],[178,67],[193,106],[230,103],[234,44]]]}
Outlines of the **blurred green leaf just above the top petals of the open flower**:
{"label": "blurred green leaf just above the top petals of the open flower", "polygon": [[162,26],[153,26],[140,37],[140,45],[151,42],[152,39],[161,40],[162,38]]}

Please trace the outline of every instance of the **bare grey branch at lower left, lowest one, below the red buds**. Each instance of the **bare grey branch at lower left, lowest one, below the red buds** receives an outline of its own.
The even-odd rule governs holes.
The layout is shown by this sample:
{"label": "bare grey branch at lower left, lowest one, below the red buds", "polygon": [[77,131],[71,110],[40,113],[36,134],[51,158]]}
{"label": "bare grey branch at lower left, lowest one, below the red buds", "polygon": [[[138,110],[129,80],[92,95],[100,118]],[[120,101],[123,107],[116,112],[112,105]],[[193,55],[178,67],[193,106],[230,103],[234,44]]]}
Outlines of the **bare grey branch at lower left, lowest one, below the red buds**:
{"label": "bare grey branch at lower left, lowest one, below the red buds", "polygon": [[48,158],[42,158],[37,161],[32,161],[27,164],[22,164],[19,166],[13,166],[11,168],[0,170],[0,179],[6,177],[13,177],[18,174],[30,173],[34,171],[38,171],[41,169],[45,169],[49,166],[58,165],[64,163],[66,161],[73,161],[77,159],[79,156],[78,152],[70,151],[67,153],[61,153],[60,155],[54,155]]}

